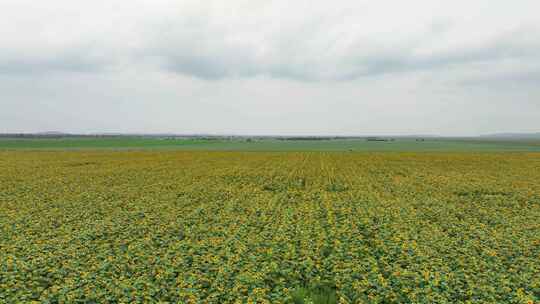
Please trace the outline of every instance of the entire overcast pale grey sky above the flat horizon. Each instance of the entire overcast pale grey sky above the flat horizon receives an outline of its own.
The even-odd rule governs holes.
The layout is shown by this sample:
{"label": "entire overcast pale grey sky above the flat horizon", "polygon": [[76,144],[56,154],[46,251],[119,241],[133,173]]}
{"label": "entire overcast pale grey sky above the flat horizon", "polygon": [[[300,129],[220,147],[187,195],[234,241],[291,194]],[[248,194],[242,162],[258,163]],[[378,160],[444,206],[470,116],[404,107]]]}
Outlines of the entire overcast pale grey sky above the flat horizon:
{"label": "entire overcast pale grey sky above the flat horizon", "polygon": [[540,131],[538,0],[0,0],[0,133]]}

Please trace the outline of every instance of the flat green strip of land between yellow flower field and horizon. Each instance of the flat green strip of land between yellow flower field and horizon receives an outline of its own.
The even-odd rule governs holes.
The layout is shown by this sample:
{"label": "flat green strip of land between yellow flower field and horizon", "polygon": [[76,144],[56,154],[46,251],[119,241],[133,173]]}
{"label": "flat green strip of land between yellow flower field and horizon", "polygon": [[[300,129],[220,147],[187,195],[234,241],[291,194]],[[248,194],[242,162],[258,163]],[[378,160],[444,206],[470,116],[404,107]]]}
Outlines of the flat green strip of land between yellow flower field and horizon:
{"label": "flat green strip of land between yellow flower field and horizon", "polygon": [[363,139],[336,140],[205,140],[156,138],[60,138],[0,139],[0,150],[71,150],[71,149],[173,149],[205,151],[474,151],[538,152],[538,141],[482,141],[457,139],[397,139],[368,142]]}

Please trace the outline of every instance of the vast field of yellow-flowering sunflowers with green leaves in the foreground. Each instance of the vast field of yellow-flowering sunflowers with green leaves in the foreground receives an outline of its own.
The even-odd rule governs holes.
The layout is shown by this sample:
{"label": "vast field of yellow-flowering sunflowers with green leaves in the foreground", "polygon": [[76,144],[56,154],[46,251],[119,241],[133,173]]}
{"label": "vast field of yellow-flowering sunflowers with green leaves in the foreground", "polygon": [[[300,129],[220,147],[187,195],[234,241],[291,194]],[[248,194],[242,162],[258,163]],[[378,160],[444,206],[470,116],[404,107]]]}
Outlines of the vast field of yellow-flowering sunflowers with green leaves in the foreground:
{"label": "vast field of yellow-flowering sunflowers with green leaves in the foreground", "polygon": [[2,303],[540,301],[540,153],[0,151],[0,167]]}

